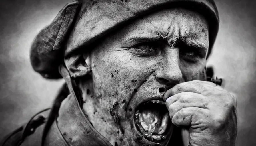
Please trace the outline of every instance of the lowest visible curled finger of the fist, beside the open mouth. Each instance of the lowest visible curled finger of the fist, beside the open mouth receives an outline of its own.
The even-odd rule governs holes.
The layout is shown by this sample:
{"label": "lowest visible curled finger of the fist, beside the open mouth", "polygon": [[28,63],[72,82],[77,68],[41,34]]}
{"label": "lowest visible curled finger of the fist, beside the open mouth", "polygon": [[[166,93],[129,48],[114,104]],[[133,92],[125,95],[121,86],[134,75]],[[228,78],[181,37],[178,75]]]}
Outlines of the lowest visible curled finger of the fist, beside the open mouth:
{"label": "lowest visible curled finger of the fist, beside the open mouth", "polygon": [[210,121],[210,111],[198,107],[186,107],[179,110],[172,118],[172,123],[176,126],[191,126],[192,128],[206,127]]}

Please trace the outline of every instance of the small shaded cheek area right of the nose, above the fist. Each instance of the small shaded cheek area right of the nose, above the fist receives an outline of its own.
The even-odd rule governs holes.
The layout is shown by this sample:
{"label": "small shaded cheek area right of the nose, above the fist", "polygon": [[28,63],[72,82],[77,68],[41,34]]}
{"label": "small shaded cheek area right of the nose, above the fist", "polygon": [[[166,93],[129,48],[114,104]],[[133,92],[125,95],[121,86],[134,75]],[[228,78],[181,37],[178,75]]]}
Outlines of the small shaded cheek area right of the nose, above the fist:
{"label": "small shaded cheek area right of the nose, above the fist", "polygon": [[181,62],[180,66],[183,82],[192,80],[204,80],[205,78],[205,60],[196,63]]}

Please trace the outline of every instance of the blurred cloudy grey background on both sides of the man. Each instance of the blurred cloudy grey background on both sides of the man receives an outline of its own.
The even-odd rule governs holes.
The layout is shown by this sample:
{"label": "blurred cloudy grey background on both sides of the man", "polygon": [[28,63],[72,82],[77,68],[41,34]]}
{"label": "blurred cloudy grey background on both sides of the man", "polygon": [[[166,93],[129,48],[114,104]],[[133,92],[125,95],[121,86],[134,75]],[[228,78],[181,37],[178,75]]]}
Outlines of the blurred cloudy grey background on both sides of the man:
{"label": "blurred cloudy grey background on both sides of the man", "polygon": [[[236,146],[256,145],[256,1],[215,0],[220,29],[208,65],[238,98]],[[70,0],[0,1],[0,137],[51,105],[63,80],[46,80],[29,62],[33,38]]]}

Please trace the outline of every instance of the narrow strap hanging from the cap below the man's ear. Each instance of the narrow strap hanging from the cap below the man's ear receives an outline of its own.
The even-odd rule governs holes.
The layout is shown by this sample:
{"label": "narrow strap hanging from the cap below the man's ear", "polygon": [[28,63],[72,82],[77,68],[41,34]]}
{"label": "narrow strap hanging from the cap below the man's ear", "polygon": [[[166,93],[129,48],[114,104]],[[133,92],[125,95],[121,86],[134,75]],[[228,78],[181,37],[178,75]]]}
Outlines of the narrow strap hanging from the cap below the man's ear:
{"label": "narrow strap hanging from the cap below the man's ear", "polygon": [[65,79],[67,87],[68,87],[70,93],[72,93],[75,96],[75,98],[77,98],[79,106],[82,108],[83,100],[81,98],[81,91],[77,87],[75,78],[69,74],[69,71],[67,70],[66,66],[64,66],[63,64],[61,64],[59,66],[59,73]]}

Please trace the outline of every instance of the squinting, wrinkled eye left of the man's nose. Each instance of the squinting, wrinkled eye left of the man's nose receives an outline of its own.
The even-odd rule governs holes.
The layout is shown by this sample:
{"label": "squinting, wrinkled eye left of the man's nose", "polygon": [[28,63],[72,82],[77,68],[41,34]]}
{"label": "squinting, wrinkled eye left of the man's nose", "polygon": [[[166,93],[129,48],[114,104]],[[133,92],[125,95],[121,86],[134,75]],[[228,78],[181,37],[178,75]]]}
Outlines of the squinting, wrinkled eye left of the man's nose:
{"label": "squinting, wrinkled eye left of the man's nose", "polygon": [[157,54],[157,47],[153,43],[143,43],[131,47],[131,51],[139,56],[153,56]]}

